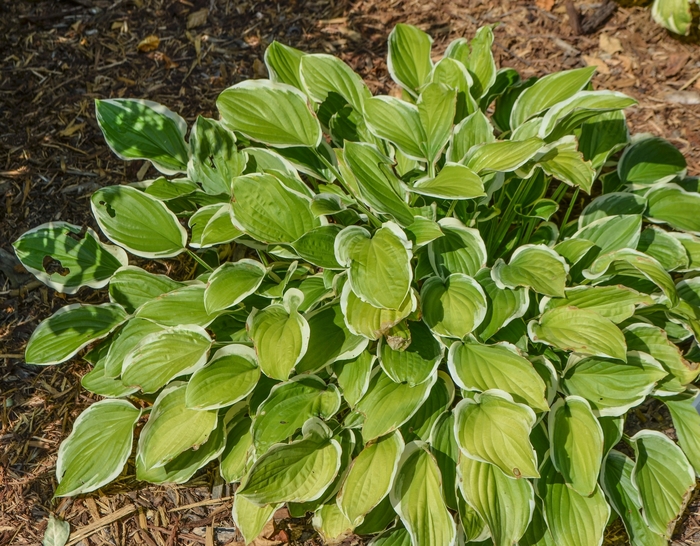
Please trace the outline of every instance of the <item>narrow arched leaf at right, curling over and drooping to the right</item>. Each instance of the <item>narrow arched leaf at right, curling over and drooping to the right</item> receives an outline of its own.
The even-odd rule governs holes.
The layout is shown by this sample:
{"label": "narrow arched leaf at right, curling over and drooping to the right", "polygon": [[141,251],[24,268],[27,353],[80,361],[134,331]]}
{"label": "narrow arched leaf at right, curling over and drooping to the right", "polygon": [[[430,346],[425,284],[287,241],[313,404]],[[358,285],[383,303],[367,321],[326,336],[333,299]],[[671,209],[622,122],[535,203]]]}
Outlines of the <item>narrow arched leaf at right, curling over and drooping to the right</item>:
{"label": "narrow arched leaf at right, curling over and drooping to the right", "polygon": [[606,273],[647,279],[663,291],[672,306],[678,304],[678,293],[671,276],[657,260],[642,252],[625,248],[603,254],[583,271],[583,276],[597,280]]}

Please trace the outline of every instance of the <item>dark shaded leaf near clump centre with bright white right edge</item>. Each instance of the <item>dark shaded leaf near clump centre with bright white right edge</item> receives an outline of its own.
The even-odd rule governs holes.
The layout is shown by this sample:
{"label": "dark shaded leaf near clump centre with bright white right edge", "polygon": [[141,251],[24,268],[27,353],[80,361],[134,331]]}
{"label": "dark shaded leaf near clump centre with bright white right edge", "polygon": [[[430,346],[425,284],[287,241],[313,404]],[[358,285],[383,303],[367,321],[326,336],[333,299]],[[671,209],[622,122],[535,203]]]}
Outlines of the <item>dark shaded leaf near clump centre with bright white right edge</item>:
{"label": "dark shaded leaf near clump centre with bright white right edge", "polygon": [[309,347],[297,363],[297,373],[316,373],[336,360],[357,357],[367,347],[366,337],[348,331],[340,305],[325,307],[306,316],[309,324]]}

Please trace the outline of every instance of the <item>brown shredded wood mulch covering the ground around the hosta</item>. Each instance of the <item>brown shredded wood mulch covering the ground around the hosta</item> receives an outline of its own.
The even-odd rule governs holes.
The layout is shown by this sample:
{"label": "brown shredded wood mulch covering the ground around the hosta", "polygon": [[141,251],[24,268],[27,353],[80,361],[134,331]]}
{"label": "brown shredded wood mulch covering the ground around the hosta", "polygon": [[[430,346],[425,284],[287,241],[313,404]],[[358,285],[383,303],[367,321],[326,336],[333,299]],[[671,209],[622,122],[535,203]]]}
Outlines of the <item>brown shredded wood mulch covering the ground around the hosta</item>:
{"label": "brown shredded wood mulch covering the ground around the hosta", "polygon": [[[73,544],[237,544],[228,484],[210,467],[183,486],[135,481],[133,466],[114,484],[76,499],[52,500],[58,446],[94,401],[82,391],[88,366],[40,368],[21,355],[36,325],[71,302],[103,292],[57,294],[11,262],[11,243],[27,229],[62,220],[96,229],[89,196],[110,184],[155,176],[147,163],[113,156],[93,101],[140,97],[190,123],[216,116],[226,87],[265,77],[273,40],[340,56],[374,92],[395,90],[386,38],[408,22],[435,38],[435,52],[484,24],[495,28],[499,66],[525,77],[595,65],[596,88],[639,101],[633,133],[674,143],[700,174],[700,46],[650,20],[648,7],[582,0],[32,0],[0,4],[0,544],[39,544],[49,513],[71,524]],[[642,2],[644,3],[644,2]],[[647,4],[649,2],[646,2]],[[573,8],[573,9],[572,9]],[[612,11],[612,10],[609,10]],[[576,24],[578,22],[578,24]],[[576,31],[587,32],[578,34]],[[183,260],[158,267],[177,276]],[[645,413],[646,412],[646,413]],[[665,430],[654,404],[637,420]],[[647,425],[648,426],[648,425]],[[668,432],[668,431],[667,431]],[[308,521],[285,511],[258,545],[320,544]],[[625,544],[620,525],[608,544]],[[347,544],[362,543],[350,537]],[[700,499],[691,502],[674,544],[700,543]]]}

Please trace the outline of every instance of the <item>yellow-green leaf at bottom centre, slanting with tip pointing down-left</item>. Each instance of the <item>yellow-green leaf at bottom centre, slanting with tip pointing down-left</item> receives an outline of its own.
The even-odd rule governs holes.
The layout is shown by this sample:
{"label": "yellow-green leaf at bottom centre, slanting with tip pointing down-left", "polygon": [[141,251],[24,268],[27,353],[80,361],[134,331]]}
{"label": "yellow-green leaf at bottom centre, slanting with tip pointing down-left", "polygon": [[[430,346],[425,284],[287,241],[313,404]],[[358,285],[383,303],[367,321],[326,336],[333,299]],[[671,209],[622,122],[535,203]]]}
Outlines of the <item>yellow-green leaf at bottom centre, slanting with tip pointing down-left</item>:
{"label": "yellow-green leaf at bottom centre, slanting with tip pointing down-left", "polygon": [[389,493],[403,450],[403,438],[394,431],[367,444],[353,460],[337,499],[353,526]]}

